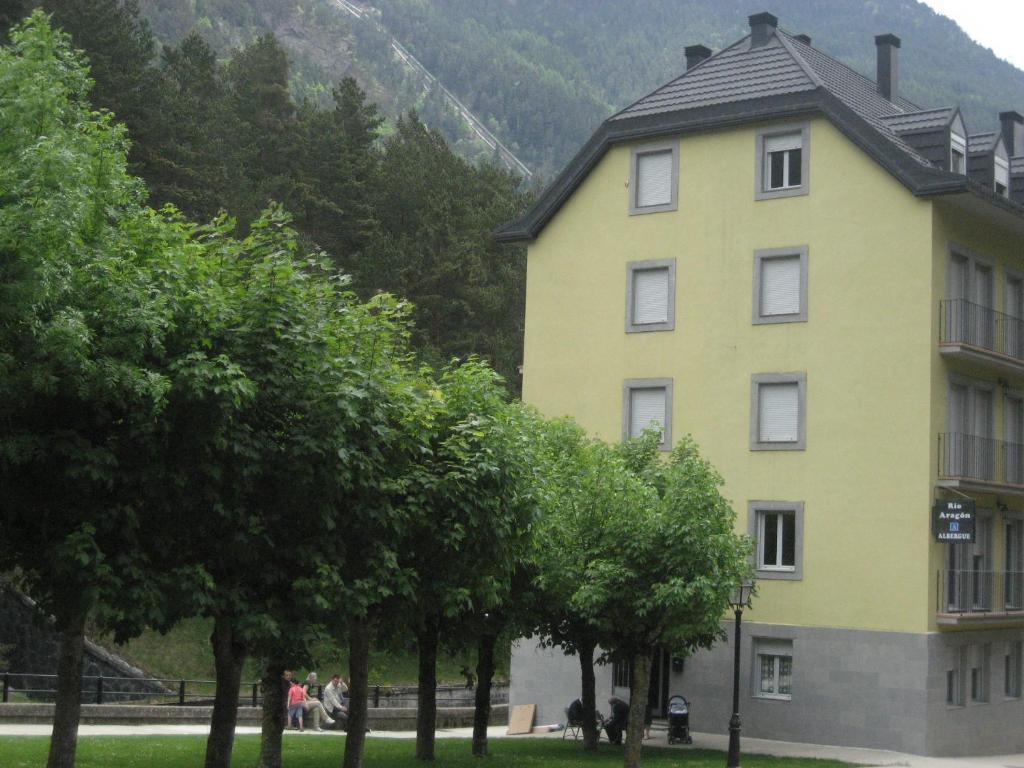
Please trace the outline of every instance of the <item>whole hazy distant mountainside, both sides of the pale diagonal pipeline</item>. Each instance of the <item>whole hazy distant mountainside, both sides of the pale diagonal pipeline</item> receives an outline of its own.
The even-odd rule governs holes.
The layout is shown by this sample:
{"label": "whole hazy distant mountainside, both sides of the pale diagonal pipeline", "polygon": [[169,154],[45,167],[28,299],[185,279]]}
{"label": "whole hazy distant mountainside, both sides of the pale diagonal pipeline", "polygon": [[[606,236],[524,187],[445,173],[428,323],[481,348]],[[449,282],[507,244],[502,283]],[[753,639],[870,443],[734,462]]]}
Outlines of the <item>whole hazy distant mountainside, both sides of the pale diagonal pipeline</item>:
{"label": "whole hazy distant mountainside, both sides of the pale diagonal pipeline", "polygon": [[958,103],[973,132],[1001,110],[1024,111],[1024,72],[915,0],[141,0],[159,37],[198,27],[215,48],[273,30],[294,59],[293,86],[325,95],[355,77],[385,114],[416,108],[467,157],[488,150],[394,55],[394,36],[531,168],[547,178],[597,124],[680,74],[683,48],[718,50],[746,16],[781,26],[873,76],[877,34],[892,32],[902,92],[923,106]]}

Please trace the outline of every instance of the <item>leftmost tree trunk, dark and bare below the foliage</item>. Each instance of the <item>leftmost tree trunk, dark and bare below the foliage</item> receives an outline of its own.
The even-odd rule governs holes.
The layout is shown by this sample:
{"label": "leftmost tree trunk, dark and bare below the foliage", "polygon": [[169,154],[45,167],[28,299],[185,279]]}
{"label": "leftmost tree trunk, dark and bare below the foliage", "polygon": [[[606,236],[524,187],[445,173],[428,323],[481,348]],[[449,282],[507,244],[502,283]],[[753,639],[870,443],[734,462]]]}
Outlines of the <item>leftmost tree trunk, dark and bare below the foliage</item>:
{"label": "leftmost tree trunk, dark and bare below the foliage", "polygon": [[57,690],[53,731],[46,768],[75,768],[78,721],[82,713],[82,652],[85,648],[85,608],[57,615]]}

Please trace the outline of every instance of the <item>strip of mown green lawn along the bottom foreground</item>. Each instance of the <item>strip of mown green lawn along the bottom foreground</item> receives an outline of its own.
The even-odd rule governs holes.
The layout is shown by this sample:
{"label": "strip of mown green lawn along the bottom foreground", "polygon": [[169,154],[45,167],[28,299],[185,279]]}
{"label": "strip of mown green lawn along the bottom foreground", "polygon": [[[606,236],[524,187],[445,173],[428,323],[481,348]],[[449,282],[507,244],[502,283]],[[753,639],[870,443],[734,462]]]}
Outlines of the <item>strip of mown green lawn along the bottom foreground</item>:
{"label": "strip of mown green lawn along the bottom foreground", "polygon": [[[37,768],[46,762],[48,738],[0,738],[3,768]],[[201,766],[206,740],[197,736],[83,736],[79,739],[78,768],[189,768]],[[286,768],[340,766],[345,749],[343,738],[315,733],[288,734],[285,738]],[[364,764],[367,768],[423,768],[414,758],[412,739],[371,738]],[[466,739],[438,739],[435,765],[443,768],[617,768],[623,764],[622,748],[602,743],[597,754],[585,754],[580,742],[553,738],[492,739],[490,758],[480,761],[469,754]],[[252,768],[259,753],[257,736],[241,736],[236,741],[232,765]],[[744,768],[849,768],[850,763],[834,760],[803,760],[743,756]],[[722,768],[725,753],[707,750],[645,748],[645,766],[659,768]]]}

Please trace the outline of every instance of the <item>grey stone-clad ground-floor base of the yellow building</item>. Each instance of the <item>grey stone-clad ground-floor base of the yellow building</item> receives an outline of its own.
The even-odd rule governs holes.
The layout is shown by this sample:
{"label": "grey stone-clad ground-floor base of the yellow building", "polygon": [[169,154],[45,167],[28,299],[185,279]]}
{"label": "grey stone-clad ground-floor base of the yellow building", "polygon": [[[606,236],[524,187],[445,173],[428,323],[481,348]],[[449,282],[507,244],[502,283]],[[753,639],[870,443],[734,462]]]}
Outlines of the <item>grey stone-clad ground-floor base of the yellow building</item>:
{"label": "grey stone-clad ground-floor base of the yellow building", "polygon": [[[732,624],[723,626],[728,642],[687,658],[682,673],[670,673],[669,695],[690,701],[695,731],[728,729]],[[742,635],[744,735],[935,757],[1024,752],[1024,700],[1008,697],[1004,687],[1010,643],[1024,640],[1024,628],[906,634],[744,623]],[[755,649],[777,652],[791,645],[791,697],[760,695]],[[987,701],[972,700],[975,666],[987,680]],[[958,676],[963,705],[946,701],[950,671]],[[612,688],[610,667],[596,673],[599,709],[611,692],[628,696]],[[539,649],[532,640],[513,646],[511,705],[536,703],[538,723],[564,722],[564,709],[579,695],[575,657]]]}

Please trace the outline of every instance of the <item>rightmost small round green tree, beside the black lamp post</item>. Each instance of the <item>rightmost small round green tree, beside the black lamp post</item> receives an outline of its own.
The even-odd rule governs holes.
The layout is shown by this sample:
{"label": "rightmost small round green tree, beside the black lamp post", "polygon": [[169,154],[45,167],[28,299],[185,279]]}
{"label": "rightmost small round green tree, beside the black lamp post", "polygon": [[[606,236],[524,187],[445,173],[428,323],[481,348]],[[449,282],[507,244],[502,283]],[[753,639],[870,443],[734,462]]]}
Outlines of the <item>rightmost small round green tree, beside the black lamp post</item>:
{"label": "rightmost small round green tree, beside the black lamp post", "polygon": [[632,663],[626,768],[640,765],[655,647],[688,654],[724,639],[729,598],[751,575],[750,543],[734,530],[722,476],[689,436],[663,462],[659,439],[651,430],[621,449],[646,498],[614,508],[606,524],[616,541],[590,564],[574,595],[599,625],[602,645]]}

